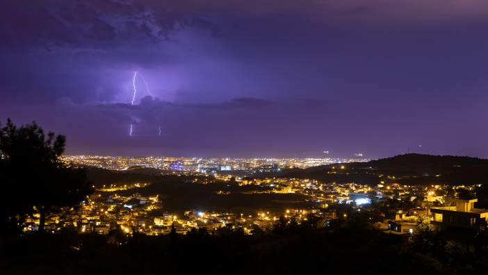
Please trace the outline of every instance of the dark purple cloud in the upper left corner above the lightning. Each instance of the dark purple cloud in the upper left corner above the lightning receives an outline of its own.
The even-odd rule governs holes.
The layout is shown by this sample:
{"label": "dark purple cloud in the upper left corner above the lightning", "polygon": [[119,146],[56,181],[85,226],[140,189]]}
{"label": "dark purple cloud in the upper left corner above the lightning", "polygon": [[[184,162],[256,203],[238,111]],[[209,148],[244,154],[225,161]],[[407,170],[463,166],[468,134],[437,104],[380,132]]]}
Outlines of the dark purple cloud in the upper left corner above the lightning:
{"label": "dark purple cloud in the upper left corner above the lightning", "polygon": [[133,1],[3,1],[3,47],[74,49],[159,43],[187,26],[216,26],[191,13],[171,12]]}

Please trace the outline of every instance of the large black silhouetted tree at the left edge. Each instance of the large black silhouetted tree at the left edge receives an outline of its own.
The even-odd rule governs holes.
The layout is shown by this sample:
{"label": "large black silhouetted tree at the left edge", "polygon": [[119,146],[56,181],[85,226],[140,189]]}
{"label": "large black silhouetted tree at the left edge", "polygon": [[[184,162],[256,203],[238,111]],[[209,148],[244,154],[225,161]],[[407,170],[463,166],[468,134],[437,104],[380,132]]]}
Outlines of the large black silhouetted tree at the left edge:
{"label": "large black silhouetted tree at the left edge", "polygon": [[49,212],[78,205],[92,192],[86,173],[60,160],[65,136],[44,134],[35,123],[0,126],[1,222],[17,227],[27,214],[40,214],[39,231]]}

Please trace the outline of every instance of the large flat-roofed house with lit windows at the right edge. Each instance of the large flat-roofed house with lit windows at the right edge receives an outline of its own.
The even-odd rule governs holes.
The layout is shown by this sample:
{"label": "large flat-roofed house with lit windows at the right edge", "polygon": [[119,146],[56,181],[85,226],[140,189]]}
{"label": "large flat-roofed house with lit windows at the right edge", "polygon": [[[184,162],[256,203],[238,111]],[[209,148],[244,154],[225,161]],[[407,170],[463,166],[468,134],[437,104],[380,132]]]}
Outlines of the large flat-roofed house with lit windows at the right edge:
{"label": "large flat-roofed house with lit windows at the right edge", "polygon": [[478,199],[457,199],[455,206],[432,207],[432,221],[430,223],[437,230],[446,228],[485,229],[488,210],[475,208]]}

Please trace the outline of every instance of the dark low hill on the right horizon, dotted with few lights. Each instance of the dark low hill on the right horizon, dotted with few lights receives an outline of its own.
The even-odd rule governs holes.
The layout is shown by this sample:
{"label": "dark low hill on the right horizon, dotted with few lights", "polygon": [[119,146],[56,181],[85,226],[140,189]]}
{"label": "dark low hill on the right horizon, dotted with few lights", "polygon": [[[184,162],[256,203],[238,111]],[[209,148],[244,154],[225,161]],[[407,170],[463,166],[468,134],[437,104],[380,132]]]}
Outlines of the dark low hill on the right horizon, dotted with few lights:
{"label": "dark low hill on the right horizon, dotted with few lights", "polygon": [[482,184],[488,182],[488,159],[406,154],[371,162],[330,164],[284,171],[293,178],[324,182],[379,184]]}

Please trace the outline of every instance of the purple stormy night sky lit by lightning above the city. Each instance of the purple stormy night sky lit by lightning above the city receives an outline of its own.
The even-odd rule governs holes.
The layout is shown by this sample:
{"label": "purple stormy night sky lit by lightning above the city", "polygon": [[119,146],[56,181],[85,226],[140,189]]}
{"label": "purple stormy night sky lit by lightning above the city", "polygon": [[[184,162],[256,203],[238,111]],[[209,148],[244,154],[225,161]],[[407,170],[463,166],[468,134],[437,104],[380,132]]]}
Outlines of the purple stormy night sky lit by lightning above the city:
{"label": "purple stormy night sky lit by lightning above the city", "polygon": [[486,0],[8,0],[0,48],[67,154],[488,157]]}

